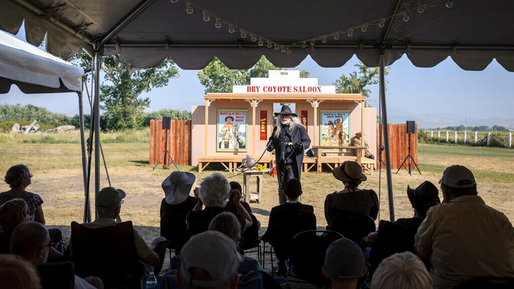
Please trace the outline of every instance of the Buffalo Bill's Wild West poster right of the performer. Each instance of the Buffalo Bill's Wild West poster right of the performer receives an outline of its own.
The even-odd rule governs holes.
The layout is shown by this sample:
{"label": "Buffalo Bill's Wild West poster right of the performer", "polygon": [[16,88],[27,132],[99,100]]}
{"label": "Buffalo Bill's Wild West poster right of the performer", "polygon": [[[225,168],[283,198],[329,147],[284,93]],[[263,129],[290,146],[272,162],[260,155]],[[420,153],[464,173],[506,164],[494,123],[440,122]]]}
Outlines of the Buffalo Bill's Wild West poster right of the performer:
{"label": "Buffalo Bill's Wild West poster right of the performer", "polygon": [[320,111],[321,146],[347,147],[350,138],[350,112]]}

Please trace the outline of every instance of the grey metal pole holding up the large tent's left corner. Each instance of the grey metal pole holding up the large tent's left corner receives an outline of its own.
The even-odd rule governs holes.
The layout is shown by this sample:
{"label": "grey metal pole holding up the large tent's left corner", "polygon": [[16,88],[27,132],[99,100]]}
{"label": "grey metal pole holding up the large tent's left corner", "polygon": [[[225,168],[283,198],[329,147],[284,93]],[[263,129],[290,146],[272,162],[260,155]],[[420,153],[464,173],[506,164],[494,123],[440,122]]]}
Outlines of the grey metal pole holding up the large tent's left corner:
{"label": "grey metal pole holding up the large tent's left corner", "polygon": [[[100,191],[100,50],[95,51],[95,203]],[[95,219],[97,217],[95,206]]]}

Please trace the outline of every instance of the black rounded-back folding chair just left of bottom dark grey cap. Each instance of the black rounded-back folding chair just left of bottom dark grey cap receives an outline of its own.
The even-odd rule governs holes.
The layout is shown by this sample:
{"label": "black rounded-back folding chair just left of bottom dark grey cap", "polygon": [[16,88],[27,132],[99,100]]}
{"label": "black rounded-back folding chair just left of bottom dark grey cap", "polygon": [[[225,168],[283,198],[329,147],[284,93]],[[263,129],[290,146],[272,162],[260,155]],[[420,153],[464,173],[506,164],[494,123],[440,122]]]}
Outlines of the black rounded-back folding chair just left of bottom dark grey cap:
{"label": "black rounded-back folding chair just left of bottom dark grey cap", "polygon": [[326,249],[332,242],[343,238],[342,234],[327,230],[309,230],[298,233],[291,240],[289,259],[286,261],[288,276],[317,286],[327,286],[331,279],[323,276]]}

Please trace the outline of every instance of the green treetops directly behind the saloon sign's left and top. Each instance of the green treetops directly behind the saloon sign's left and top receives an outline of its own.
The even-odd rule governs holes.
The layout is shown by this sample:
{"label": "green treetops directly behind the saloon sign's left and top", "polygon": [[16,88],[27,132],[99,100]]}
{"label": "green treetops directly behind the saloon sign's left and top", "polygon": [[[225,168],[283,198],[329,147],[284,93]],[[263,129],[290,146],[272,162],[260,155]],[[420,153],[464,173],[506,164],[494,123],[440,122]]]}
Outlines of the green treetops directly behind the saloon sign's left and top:
{"label": "green treetops directly behind the saloon sign's left and top", "polygon": [[[198,71],[198,79],[205,86],[205,93],[231,93],[232,85],[249,85],[251,77],[268,77],[269,70],[280,70],[264,56],[248,70],[230,69],[215,57],[204,69]],[[309,77],[309,71],[301,70],[300,77]]]}

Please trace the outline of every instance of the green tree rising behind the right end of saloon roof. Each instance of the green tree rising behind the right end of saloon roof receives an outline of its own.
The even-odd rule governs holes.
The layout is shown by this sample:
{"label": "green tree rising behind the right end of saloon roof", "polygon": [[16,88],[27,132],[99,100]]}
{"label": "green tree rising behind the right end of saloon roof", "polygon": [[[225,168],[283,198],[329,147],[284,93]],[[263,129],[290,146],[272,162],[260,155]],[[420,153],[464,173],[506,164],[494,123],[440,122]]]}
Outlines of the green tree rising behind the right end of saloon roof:
{"label": "green tree rising behind the right end of saloon roof", "polygon": [[[341,75],[336,82],[333,82],[336,86],[336,93],[351,93],[361,94],[365,98],[369,98],[371,89],[366,88],[368,85],[379,83],[379,68],[368,67],[362,62],[355,64],[357,71],[346,75]],[[386,67],[385,75],[389,74],[390,67]],[[369,105],[366,101],[365,105]]]}

